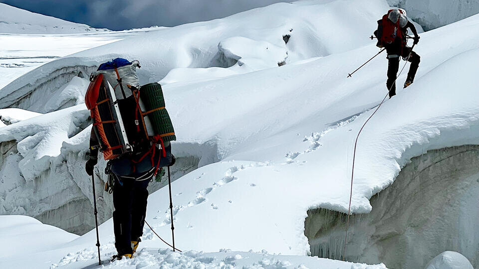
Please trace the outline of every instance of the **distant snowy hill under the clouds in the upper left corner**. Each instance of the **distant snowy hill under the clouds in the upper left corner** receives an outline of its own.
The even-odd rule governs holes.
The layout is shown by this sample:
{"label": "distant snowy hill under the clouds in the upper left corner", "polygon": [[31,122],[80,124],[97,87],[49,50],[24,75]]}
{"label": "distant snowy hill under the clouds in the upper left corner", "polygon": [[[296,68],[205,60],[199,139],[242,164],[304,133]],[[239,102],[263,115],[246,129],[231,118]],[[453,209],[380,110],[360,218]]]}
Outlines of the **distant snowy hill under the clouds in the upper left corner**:
{"label": "distant snowy hill under the clouds in the upper left corner", "polygon": [[0,3],[0,18],[0,33],[70,34],[109,31],[108,29],[96,29],[86,24],[30,12],[4,3]]}

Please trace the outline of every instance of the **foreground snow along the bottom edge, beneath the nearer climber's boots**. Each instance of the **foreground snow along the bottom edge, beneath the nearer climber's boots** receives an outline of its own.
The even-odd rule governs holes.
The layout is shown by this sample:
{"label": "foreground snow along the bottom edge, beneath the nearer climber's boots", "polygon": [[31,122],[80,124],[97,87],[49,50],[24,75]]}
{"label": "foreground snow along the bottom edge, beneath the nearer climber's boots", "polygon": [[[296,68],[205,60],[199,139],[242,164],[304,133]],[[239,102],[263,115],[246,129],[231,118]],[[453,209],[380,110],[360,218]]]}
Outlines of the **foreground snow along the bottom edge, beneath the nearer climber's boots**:
{"label": "foreground snow along the bottom edge, beneath the nearer climber's boots", "polygon": [[[110,223],[111,224],[111,223]],[[26,216],[0,216],[2,268],[160,268],[160,269],[387,269],[383,264],[365,265],[306,256],[285,256],[260,252],[199,251],[173,252],[171,249],[144,247],[140,243],[133,259],[113,263],[116,254],[111,236],[101,237],[101,260],[92,242]],[[104,235],[104,234],[100,234]],[[96,237],[91,238],[95,240]],[[109,240],[109,241],[107,241]],[[21,251],[19,251],[21,249]],[[28,258],[24,253],[28,253]]]}

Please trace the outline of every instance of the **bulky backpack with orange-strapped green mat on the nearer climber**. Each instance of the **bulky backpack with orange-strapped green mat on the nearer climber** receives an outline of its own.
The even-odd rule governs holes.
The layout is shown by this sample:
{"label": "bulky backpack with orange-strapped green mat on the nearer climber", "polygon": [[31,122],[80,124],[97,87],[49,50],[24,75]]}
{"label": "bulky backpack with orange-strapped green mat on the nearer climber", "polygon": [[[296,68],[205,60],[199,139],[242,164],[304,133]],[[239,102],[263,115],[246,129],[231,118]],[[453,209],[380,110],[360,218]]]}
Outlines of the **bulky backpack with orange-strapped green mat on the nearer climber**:
{"label": "bulky backpack with orange-strapped green mat on the nearer climber", "polygon": [[156,174],[160,158],[155,165],[155,154],[166,156],[164,142],[176,140],[176,135],[161,85],[139,87],[136,67],[140,67],[138,61],[121,58],[101,64],[90,76],[85,104],[105,160],[141,152],[132,161],[150,156],[152,166],[157,166]]}

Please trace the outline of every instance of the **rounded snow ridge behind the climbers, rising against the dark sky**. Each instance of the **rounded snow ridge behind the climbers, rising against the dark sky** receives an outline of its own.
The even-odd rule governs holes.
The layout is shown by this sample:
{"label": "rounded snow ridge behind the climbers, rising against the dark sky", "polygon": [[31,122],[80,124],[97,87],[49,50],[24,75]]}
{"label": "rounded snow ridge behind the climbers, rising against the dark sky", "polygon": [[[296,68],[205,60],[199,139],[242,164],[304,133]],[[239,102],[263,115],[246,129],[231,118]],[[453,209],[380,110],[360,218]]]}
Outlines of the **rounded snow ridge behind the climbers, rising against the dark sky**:
{"label": "rounded snow ridge behind the climbers, rising against the dark sky", "polygon": [[[370,7],[364,9],[364,5]],[[87,77],[95,66],[116,57],[139,60],[140,82],[146,84],[163,79],[170,71],[172,74],[165,82],[187,81],[184,75],[191,68],[205,68],[192,71],[192,78],[205,80],[344,52],[369,42],[366,37],[376,28],[376,17],[382,16],[387,8],[384,0],[319,4],[298,1],[277,3],[223,19],[160,28],[49,62],[5,86],[0,91],[0,108],[28,109],[21,98],[34,92],[49,98],[72,74],[82,72]],[[364,10],[366,15],[357,10]],[[333,15],[336,13],[341,15]],[[344,17],[361,27],[343,23]],[[230,66],[231,69],[221,71],[215,68]],[[176,68],[189,70],[182,72]]]}

